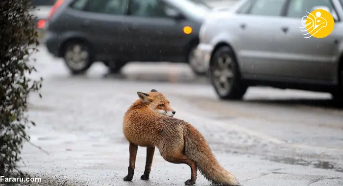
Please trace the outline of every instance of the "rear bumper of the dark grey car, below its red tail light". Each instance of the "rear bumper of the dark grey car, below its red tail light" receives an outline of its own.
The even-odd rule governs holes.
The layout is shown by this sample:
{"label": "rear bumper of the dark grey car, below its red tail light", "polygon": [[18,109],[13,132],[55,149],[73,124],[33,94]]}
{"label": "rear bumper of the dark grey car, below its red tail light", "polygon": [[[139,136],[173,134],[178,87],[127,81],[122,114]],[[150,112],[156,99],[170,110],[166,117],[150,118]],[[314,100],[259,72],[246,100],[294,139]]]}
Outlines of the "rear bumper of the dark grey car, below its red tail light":
{"label": "rear bumper of the dark grey car, below its red tail light", "polygon": [[60,57],[60,40],[56,33],[47,30],[44,33],[43,43],[48,48],[49,53],[55,57]]}

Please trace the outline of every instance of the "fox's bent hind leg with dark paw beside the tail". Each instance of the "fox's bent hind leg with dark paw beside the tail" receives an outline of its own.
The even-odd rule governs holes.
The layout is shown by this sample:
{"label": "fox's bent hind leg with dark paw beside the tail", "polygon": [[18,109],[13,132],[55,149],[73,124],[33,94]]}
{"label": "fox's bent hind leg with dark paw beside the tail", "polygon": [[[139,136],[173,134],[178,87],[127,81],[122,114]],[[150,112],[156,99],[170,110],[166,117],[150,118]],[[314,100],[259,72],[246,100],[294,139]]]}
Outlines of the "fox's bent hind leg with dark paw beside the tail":
{"label": "fox's bent hind leg with dark paw beside the tail", "polygon": [[187,180],[185,182],[185,185],[191,186],[196,184],[196,163],[187,158],[185,155],[183,155],[182,153],[178,154],[178,155],[166,155],[166,156],[162,156],[166,161],[170,162],[170,163],[176,163],[176,164],[180,164],[180,163],[184,163],[184,164],[188,164],[188,166],[191,167],[191,179]]}

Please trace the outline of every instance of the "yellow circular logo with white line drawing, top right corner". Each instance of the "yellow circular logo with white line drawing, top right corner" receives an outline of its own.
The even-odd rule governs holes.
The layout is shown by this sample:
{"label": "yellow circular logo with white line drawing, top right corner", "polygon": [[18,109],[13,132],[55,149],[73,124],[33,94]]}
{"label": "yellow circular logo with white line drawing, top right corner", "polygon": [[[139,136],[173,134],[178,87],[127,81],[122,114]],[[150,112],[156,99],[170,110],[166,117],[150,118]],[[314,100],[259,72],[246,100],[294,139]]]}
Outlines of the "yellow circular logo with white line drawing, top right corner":
{"label": "yellow circular logo with white line drawing, top right corner", "polygon": [[330,12],[318,9],[307,15],[305,26],[309,35],[315,38],[324,38],[330,35],[333,31],[335,21]]}

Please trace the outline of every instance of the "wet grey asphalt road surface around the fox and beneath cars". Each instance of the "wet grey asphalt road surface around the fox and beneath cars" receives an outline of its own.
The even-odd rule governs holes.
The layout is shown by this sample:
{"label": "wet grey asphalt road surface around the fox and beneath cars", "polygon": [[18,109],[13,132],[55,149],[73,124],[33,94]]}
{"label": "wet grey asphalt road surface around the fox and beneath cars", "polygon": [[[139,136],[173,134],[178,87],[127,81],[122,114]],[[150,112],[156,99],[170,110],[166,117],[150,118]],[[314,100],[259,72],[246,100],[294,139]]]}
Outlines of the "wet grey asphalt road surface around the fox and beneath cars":
{"label": "wet grey asphalt road surface around the fox and beneath cars", "polygon": [[[108,75],[102,64],[71,76],[44,49],[35,56],[45,78],[39,99],[32,94],[29,116],[37,126],[25,144],[22,170],[52,186],[182,186],[187,165],[164,161],[158,150],[149,181],[140,180],[145,148],[138,149],[132,182],[124,182],[128,142],[123,114],[137,91],[165,93],[175,117],[192,123],[219,162],[244,186],[342,186],[343,110],[330,94],[250,88],[244,101],[221,101],[205,78],[185,64],[131,63]],[[209,182],[199,174],[197,186]]]}

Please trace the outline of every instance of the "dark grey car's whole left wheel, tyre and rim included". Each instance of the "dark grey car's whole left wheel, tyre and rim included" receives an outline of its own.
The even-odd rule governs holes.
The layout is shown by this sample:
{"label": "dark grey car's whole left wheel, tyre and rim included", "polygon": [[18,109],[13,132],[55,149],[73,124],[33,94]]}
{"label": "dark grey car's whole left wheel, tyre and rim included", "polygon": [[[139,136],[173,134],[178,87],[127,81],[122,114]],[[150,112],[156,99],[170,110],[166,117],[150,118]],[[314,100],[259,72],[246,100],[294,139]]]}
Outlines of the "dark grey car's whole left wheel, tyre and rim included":
{"label": "dark grey car's whole left wheel, tyre and rim included", "polygon": [[86,42],[71,41],[64,45],[63,59],[72,74],[86,72],[93,64],[93,54]]}

